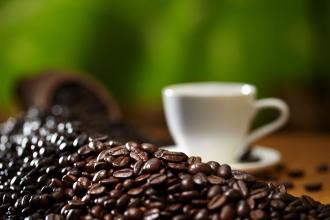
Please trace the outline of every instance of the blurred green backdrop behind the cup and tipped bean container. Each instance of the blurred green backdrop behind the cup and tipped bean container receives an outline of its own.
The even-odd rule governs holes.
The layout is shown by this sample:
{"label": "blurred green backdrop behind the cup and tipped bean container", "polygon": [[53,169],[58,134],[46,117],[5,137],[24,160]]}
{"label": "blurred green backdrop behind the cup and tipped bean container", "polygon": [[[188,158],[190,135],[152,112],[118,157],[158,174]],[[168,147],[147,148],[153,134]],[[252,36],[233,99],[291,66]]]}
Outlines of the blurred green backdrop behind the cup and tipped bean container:
{"label": "blurred green backdrop behind the cup and tipped bean container", "polygon": [[65,69],[140,109],[168,84],[253,83],[289,102],[293,128],[329,131],[329,40],[327,0],[1,0],[0,109],[20,77]]}

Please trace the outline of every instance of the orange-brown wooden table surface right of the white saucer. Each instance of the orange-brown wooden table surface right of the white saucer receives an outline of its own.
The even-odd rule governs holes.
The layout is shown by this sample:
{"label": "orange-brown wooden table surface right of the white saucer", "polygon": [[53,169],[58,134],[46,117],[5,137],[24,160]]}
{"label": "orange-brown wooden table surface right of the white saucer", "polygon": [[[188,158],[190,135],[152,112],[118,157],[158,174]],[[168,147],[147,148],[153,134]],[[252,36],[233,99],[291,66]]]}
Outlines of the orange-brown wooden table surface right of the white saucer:
{"label": "orange-brown wooden table surface right of the white saucer", "polygon": [[[281,180],[290,180],[294,188],[289,190],[293,195],[309,195],[325,204],[330,204],[330,170],[318,173],[316,167],[320,163],[330,166],[330,134],[311,133],[281,133],[269,136],[257,144],[273,147],[282,153],[282,163],[286,167],[279,173]],[[305,175],[301,178],[290,178],[287,171],[303,169]],[[304,184],[321,182],[322,190],[307,192]]]}

